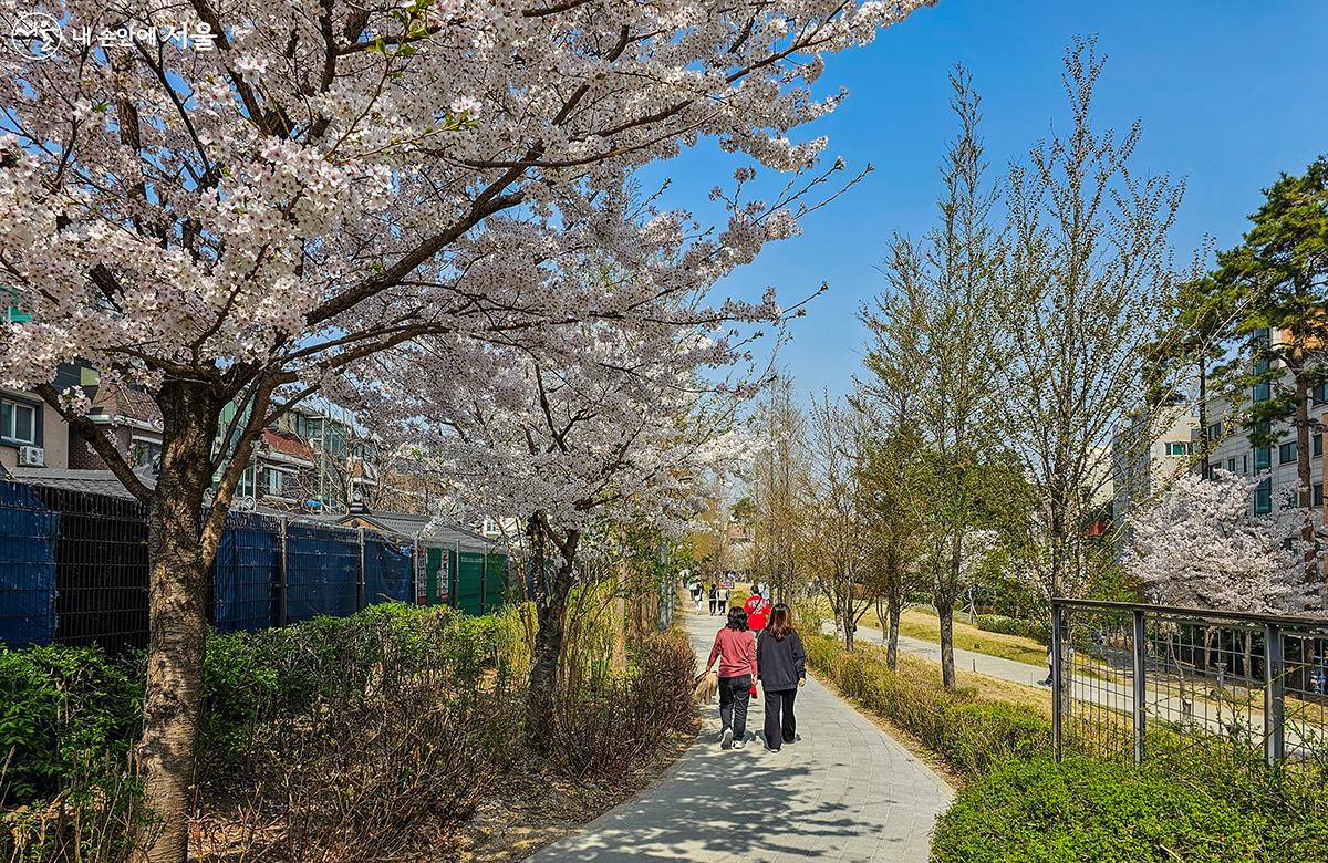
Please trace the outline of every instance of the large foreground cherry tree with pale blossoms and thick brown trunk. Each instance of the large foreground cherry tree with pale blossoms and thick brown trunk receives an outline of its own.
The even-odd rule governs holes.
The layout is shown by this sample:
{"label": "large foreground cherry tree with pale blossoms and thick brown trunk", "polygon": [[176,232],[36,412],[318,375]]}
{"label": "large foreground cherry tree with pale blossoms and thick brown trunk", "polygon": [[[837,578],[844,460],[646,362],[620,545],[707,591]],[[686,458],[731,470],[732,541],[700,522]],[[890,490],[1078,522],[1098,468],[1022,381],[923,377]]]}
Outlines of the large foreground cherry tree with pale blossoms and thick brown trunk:
{"label": "large foreground cherry tree with pale blossoms and thick brown trunk", "polygon": [[[0,1],[5,32],[28,5]],[[823,54],[916,5],[65,0],[48,9],[58,46],[0,56],[0,280],[31,316],[0,331],[0,381],[35,388],[150,511],[138,761],[165,830],[147,859],[185,855],[206,574],[263,426],[421,335],[511,341],[631,313],[607,292],[559,293],[547,266],[679,230],[603,234],[606,190],[703,138],[806,169],[823,139],[788,135],[842,98],[810,93]],[[121,27],[134,36],[117,41]],[[793,230],[784,212],[734,210],[687,262],[704,281],[750,260]],[[157,400],[155,486],[78,393],[50,386],[74,357]],[[457,368],[482,386],[489,366]],[[236,401],[250,409],[214,451]]]}

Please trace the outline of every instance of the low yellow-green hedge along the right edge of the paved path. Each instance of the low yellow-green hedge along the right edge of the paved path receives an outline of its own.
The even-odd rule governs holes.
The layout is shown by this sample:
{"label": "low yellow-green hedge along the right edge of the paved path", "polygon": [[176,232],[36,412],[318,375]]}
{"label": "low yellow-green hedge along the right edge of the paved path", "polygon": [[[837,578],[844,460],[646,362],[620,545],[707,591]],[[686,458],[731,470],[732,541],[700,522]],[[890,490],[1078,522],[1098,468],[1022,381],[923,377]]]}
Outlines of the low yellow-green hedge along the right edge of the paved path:
{"label": "low yellow-green hedge along the right edge of the paved path", "polygon": [[830,636],[806,639],[807,661],[846,696],[910,732],[954,770],[977,775],[1005,758],[1050,751],[1050,724],[1032,708],[950,693],[886,668],[875,648],[843,651]]}

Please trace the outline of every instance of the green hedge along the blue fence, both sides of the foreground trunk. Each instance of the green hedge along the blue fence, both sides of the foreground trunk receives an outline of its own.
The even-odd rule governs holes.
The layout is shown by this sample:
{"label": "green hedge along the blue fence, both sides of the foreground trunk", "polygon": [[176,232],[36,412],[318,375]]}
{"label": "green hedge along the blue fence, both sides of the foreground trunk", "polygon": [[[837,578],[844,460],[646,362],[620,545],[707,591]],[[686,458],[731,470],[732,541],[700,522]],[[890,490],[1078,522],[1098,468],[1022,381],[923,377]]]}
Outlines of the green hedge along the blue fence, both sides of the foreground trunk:
{"label": "green hedge along the blue fence, both sides of the foreground trunk", "polygon": [[[517,625],[448,608],[380,604],[351,617],[283,629],[212,633],[203,669],[199,765],[205,781],[234,771],[260,718],[304,709],[369,674],[445,663],[459,677],[519,656]],[[510,661],[510,659],[509,659]],[[143,656],[98,648],[0,649],[0,803],[44,799],[89,775],[122,770],[142,714]]]}

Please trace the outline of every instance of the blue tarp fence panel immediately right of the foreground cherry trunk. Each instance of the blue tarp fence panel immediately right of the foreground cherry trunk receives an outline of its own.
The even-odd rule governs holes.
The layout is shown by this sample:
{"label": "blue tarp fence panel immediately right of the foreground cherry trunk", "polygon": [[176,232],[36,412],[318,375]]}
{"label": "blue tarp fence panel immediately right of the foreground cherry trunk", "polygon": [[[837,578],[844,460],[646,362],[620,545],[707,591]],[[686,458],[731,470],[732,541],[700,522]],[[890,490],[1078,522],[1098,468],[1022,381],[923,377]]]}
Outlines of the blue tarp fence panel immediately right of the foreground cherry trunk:
{"label": "blue tarp fence panel immediately right of the foreground cherry trunk", "polygon": [[214,621],[219,632],[266,629],[274,616],[274,575],[280,566],[280,524],[231,512],[212,566]]}

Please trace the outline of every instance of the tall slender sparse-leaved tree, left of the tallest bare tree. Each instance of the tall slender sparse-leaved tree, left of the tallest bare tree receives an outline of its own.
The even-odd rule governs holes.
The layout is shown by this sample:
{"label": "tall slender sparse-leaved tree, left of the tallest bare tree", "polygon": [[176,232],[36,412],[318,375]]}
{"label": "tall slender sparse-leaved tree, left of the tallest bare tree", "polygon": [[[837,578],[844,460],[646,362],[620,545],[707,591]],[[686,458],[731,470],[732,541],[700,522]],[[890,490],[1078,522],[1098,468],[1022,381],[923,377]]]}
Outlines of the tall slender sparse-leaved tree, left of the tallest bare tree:
{"label": "tall slender sparse-leaved tree, left of the tallest bare tree", "polygon": [[[996,376],[1008,349],[996,277],[1003,240],[992,227],[997,193],[985,178],[979,135],[981,98],[963,68],[951,74],[951,86],[959,134],[942,163],[939,219],[920,242],[891,240],[888,288],[865,313],[874,340],[869,370],[899,364],[916,381],[914,421],[936,483],[922,520],[948,689],[955,686],[954,601],[967,587],[964,538],[973,531],[973,469],[993,446]],[[884,380],[876,374],[878,389]]]}

